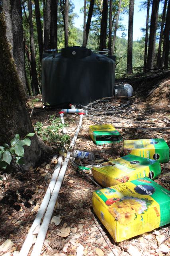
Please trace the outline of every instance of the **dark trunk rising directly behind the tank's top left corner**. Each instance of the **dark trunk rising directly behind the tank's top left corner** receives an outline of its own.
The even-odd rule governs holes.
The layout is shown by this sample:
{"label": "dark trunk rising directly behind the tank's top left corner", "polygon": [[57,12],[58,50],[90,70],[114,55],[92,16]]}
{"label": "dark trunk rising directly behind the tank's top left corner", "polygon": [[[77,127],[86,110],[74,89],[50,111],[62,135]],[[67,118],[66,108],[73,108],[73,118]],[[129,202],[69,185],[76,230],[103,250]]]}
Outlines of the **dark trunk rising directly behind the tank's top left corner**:
{"label": "dark trunk rising directly behind the tank's top left corner", "polygon": [[51,0],[46,0],[45,16],[44,16],[44,41],[43,50],[49,49],[50,40],[50,24],[51,24]]}

